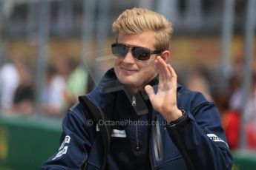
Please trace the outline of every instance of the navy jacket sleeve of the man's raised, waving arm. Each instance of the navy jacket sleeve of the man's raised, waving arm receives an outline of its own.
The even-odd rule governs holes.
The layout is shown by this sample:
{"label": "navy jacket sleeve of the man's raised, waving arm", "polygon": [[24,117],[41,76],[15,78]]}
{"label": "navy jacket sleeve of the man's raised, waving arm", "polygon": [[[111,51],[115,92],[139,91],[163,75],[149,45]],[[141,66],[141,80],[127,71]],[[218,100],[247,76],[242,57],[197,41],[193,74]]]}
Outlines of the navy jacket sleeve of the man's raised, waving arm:
{"label": "navy jacket sleeve of the man's raised, waving arm", "polygon": [[185,118],[167,127],[177,148],[193,169],[232,169],[232,154],[217,107],[200,93],[189,102]]}

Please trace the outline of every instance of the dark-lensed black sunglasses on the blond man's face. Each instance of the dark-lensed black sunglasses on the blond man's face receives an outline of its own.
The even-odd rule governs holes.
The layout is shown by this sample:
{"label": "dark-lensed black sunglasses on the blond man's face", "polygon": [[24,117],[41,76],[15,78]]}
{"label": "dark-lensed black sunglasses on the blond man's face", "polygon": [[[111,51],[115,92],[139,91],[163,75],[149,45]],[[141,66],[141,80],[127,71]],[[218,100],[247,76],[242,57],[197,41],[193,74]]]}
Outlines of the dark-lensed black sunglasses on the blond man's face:
{"label": "dark-lensed black sunglasses on the blond man's face", "polygon": [[126,44],[114,43],[111,44],[111,50],[114,56],[125,58],[129,49],[131,48],[131,53],[135,59],[139,61],[147,61],[152,54],[160,54],[161,50],[149,50],[145,47],[130,47]]}

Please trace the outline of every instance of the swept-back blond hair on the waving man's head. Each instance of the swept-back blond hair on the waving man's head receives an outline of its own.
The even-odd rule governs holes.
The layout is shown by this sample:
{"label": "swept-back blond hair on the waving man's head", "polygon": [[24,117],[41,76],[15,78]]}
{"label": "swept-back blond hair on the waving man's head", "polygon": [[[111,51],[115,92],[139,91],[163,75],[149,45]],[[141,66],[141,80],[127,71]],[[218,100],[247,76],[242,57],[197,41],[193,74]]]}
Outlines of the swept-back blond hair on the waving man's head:
{"label": "swept-back blond hair on the waving man's head", "polygon": [[118,36],[120,32],[134,34],[150,30],[156,38],[157,50],[168,50],[173,33],[172,24],[163,15],[151,10],[136,8],[125,10],[114,21],[113,32]]}

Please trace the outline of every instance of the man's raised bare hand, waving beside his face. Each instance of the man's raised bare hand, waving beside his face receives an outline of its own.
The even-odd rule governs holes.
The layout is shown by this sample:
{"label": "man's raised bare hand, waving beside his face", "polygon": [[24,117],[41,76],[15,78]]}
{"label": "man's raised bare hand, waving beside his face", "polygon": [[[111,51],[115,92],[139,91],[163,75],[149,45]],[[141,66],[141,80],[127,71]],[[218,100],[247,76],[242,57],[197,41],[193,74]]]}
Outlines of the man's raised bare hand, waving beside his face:
{"label": "man's raised bare hand, waving beside his face", "polygon": [[160,112],[165,120],[176,120],[183,115],[177,108],[177,75],[171,65],[166,64],[160,56],[157,56],[155,63],[159,70],[157,94],[150,85],[145,86],[145,92],[154,110]]}

